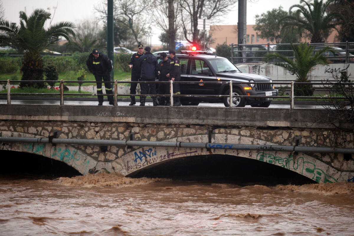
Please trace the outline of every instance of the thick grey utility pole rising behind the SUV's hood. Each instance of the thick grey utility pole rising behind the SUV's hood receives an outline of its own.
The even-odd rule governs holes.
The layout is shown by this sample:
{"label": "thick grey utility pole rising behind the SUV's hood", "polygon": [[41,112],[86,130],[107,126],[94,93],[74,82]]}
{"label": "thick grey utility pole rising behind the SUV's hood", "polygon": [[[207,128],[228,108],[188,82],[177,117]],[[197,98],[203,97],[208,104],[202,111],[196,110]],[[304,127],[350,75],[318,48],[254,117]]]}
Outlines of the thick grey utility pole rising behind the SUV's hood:
{"label": "thick grey utility pole rising behind the SUV's hood", "polygon": [[[247,30],[247,18],[246,14],[247,13],[247,0],[239,0],[239,22],[237,23],[237,29],[238,29],[238,44],[246,44],[246,30]],[[246,57],[245,52],[240,52],[240,51],[245,51],[246,46],[238,46],[238,57]],[[243,50],[245,49],[245,50]],[[232,51],[234,49],[232,48]],[[238,62],[242,62],[243,59],[239,58]]]}

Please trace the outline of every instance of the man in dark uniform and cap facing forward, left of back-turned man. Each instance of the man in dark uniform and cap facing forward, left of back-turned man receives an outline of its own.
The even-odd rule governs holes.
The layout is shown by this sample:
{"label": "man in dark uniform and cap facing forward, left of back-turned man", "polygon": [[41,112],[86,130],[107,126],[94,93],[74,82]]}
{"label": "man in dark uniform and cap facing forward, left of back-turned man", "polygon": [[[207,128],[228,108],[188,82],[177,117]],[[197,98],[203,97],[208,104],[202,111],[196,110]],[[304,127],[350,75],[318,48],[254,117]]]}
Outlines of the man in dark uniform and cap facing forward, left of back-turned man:
{"label": "man in dark uniform and cap facing forward, left of back-turned man", "polygon": [[[138,52],[134,53],[130,58],[129,67],[132,68],[131,81],[139,81],[141,66],[139,65],[139,58],[144,55],[144,46],[142,44],[138,45]],[[136,94],[137,83],[130,84],[130,94]],[[135,105],[135,96],[130,96],[131,102],[130,106]],[[140,97],[141,101],[141,97]]]}

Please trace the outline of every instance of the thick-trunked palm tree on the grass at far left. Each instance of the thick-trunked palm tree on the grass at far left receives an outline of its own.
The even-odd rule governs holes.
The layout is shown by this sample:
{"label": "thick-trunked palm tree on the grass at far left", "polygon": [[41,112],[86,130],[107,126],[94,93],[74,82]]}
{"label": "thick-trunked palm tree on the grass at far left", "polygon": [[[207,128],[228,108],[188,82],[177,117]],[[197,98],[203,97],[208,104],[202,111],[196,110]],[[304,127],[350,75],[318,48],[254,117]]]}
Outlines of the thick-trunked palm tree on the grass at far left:
{"label": "thick-trunked palm tree on the grass at far left", "polygon": [[[0,44],[11,45],[19,51],[24,51],[22,59],[22,81],[43,80],[43,60],[40,53],[50,45],[56,44],[64,37],[68,41],[75,36],[72,22],[59,22],[45,29],[45,23],[51,18],[49,12],[36,9],[29,17],[25,12],[19,12],[20,24],[5,20],[0,21]],[[21,87],[43,87],[43,83],[24,83]]]}

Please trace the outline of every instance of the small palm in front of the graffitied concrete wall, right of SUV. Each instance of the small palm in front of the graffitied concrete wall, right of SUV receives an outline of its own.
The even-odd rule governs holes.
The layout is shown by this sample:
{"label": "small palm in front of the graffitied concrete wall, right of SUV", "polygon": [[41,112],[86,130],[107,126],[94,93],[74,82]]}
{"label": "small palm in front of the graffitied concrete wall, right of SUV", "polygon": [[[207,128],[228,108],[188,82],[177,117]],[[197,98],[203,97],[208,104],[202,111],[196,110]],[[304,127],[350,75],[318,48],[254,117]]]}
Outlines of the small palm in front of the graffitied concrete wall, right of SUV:
{"label": "small palm in front of the graffitied concrete wall, right of SUV", "polygon": [[[307,42],[294,46],[290,43],[293,50],[293,57],[289,58],[278,52],[269,52],[264,55],[263,61],[271,60],[283,61],[274,62],[274,65],[282,67],[287,71],[296,75],[296,82],[310,82],[308,79],[309,72],[315,69],[316,65],[329,65],[325,52],[335,53],[332,47],[323,47],[314,53],[314,46],[308,45]],[[280,59],[280,60],[279,60]],[[311,96],[313,94],[312,85],[296,85],[294,88],[295,96]]]}

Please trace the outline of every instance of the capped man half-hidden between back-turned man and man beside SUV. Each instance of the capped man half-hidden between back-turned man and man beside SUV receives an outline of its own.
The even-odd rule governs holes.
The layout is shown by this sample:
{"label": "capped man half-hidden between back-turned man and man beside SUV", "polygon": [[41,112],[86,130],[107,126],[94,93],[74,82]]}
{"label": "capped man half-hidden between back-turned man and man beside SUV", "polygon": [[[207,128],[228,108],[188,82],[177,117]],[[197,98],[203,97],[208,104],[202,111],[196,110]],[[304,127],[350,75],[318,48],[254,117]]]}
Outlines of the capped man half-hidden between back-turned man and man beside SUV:
{"label": "capped man half-hidden between back-turned man and man beside SUV", "polygon": [[[167,74],[170,72],[170,62],[171,60],[167,57],[166,52],[162,52],[159,63],[159,81],[169,81],[169,78],[166,77]],[[169,94],[170,92],[170,85],[169,84],[159,84],[159,92],[158,94]],[[160,97],[159,105],[169,105],[169,97]]]}

